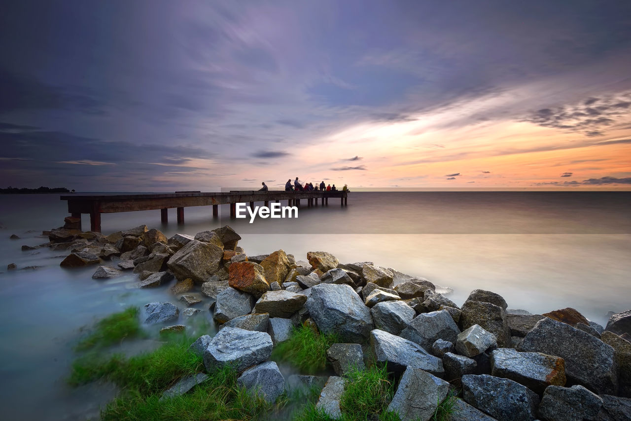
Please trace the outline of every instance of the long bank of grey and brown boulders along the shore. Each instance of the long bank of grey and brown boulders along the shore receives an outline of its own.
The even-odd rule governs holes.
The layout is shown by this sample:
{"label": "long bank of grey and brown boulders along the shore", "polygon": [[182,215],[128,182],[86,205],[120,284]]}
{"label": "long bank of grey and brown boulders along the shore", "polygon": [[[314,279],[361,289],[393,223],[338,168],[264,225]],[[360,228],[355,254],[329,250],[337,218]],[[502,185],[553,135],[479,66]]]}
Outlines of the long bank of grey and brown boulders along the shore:
{"label": "long bank of grey and brown boulders along the shore", "polygon": [[[317,407],[339,418],[345,373],[374,360],[397,381],[388,409],[401,420],[430,419],[450,391],[459,396],[451,420],[631,420],[631,310],[603,328],[573,308],[511,310],[491,291],[473,290],[459,307],[427,279],[372,262],[341,264],[327,252],[306,261],[283,250],[249,256],[229,226],[171,238],[146,226],[109,236],[77,228],[66,218],[40,247],[70,250],[63,267],[98,265],[95,279],[132,271],[138,288],[150,288],[175,278],[177,302],[148,303],[145,323],[186,329],[176,324],[178,306],[192,317],[203,301],[220,331],[191,351],[208,372],[238,367],[239,383],[268,401],[320,380]],[[327,351],[337,375],[285,379],[269,361],[301,325],[339,335]],[[183,379],[165,398],[207,378]]]}

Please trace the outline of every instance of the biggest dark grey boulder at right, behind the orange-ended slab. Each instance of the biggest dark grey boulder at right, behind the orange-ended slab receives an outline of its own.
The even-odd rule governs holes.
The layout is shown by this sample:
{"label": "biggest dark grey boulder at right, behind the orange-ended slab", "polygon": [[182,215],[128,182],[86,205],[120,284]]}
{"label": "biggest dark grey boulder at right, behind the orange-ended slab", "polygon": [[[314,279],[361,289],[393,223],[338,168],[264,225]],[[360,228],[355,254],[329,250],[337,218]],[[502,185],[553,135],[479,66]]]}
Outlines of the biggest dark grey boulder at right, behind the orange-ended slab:
{"label": "biggest dark grey boulder at right, behind the orange-ended slab", "polygon": [[615,393],[617,389],[613,348],[569,324],[541,319],[517,349],[563,358],[568,381],[594,392]]}

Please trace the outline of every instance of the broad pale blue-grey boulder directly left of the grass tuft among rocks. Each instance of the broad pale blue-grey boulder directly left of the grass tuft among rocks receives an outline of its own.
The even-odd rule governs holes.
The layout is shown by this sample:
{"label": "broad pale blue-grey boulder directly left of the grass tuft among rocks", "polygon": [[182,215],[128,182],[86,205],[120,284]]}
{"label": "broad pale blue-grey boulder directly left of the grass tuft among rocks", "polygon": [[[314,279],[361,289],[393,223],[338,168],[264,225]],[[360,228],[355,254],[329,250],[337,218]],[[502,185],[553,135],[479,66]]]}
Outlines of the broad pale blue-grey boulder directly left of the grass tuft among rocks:
{"label": "broad pale blue-grey boulder directly left of the grass tuft among rocks", "polygon": [[272,348],[272,339],[265,332],[224,327],[204,350],[204,365],[209,372],[225,365],[241,371],[266,361]]}

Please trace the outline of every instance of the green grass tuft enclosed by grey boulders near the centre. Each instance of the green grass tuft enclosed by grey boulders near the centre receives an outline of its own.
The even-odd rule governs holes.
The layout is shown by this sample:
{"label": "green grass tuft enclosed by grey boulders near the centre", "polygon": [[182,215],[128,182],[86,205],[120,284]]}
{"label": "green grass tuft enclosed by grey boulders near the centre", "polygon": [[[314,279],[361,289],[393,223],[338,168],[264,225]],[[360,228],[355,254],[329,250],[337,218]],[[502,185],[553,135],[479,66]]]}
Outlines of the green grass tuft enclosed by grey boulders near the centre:
{"label": "green grass tuft enclosed by grey boulders near the centre", "polygon": [[307,326],[294,328],[290,338],[274,347],[271,359],[288,362],[302,374],[318,374],[325,369],[326,350],[339,342],[336,334],[319,334]]}

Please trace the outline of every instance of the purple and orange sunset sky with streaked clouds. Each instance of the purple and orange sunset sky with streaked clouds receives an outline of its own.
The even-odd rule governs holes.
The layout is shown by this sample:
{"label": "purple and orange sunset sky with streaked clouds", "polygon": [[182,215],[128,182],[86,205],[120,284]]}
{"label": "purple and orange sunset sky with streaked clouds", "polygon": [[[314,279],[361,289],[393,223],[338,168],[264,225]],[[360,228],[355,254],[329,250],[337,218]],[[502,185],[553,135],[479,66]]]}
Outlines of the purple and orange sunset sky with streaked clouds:
{"label": "purple and orange sunset sky with streaked clouds", "polygon": [[629,188],[629,1],[14,1],[0,186]]}

